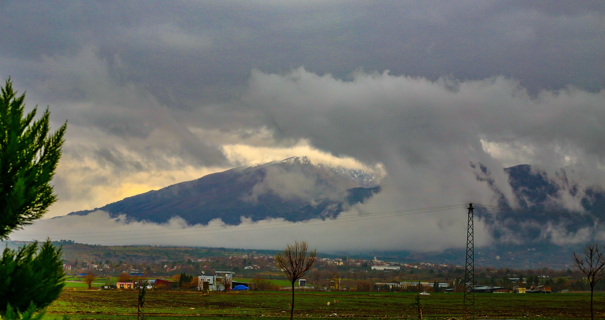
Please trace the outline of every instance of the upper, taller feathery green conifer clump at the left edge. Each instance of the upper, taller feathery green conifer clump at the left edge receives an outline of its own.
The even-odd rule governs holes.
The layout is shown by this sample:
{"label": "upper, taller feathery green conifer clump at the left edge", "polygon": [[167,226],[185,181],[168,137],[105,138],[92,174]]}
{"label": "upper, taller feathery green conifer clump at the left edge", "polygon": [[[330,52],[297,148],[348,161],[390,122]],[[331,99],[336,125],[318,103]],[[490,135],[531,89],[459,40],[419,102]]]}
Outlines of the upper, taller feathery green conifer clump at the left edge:
{"label": "upper, taller feathery green conifer clump at the left edge", "polygon": [[54,201],[50,180],[61,155],[67,123],[50,134],[50,112],[24,116],[25,94],[17,96],[10,78],[0,88],[0,240],[31,224]]}

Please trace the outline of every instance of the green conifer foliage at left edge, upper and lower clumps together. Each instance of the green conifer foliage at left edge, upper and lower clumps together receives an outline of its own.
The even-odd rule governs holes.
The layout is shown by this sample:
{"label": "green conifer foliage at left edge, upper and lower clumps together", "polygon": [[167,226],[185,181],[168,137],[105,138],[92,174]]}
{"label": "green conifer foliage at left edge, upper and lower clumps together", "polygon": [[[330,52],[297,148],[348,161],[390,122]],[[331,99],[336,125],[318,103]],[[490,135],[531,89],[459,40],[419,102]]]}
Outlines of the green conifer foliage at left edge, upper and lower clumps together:
{"label": "green conifer foliage at left edge, upper and lower clumps together", "polygon": [[[0,88],[0,240],[8,239],[47,212],[56,201],[50,181],[61,155],[67,123],[49,133],[48,109],[24,114],[25,94],[17,96],[10,78]],[[28,318],[59,296],[65,272],[61,249],[47,240],[18,250],[5,249],[0,260],[0,316]],[[41,316],[42,310],[38,313]]]}

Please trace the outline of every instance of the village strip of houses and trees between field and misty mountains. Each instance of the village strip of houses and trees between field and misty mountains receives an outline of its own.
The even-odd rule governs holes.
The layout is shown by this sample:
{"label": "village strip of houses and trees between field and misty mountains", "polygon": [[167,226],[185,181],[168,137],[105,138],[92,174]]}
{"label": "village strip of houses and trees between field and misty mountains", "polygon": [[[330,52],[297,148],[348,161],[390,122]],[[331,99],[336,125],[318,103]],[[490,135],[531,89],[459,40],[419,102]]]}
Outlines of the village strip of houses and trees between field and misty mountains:
{"label": "village strip of houses and trees between field and misty mountains", "polygon": [[[90,289],[134,290],[146,284],[154,290],[228,291],[237,286],[247,290],[291,290],[275,264],[275,256],[263,253],[204,258],[165,263],[128,263],[105,260],[64,264],[71,281],[92,279]],[[567,293],[586,290],[578,270],[477,268],[477,293]],[[303,279],[299,291],[350,292],[463,292],[463,269],[459,265],[438,263],[400,263],[370,260],[318,258]],[[183,278],[188,279],[183,281]],[[71,282],[73,283],[73,282]],[[68,283],[67,287],[70,287]]]}

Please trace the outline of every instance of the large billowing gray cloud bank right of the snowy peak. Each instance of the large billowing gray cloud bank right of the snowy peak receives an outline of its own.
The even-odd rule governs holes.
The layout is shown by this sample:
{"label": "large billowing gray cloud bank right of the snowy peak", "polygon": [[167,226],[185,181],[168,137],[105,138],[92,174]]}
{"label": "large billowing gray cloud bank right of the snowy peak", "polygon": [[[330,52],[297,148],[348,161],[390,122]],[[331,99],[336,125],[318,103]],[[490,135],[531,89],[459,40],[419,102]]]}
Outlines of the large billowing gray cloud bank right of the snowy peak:
{"label": "large billowing gray cloud bank right of the snowy peak", "polygon": [[[307,139],[338,156],[382,163],[389,179],[363,206],[367,212],[498,203],[500,197],[514,204],[508,175],[489,142],[522,142],[531,150],[532,164],[551,168],[549,179],[562,190],[561,197],[551,198],[552,208],[563,204],[582,211],[583,193],[565,192],[600,186],[605,176],[600,169],[605,153],[594,148],[604,143],[596,133],[605,129],[597,120],[605,116],[605,91],[569,88],[534,97],[505,77],[432,82],[358,73],[343,81],[299,68],[285,75],[255,71],[244,102],[271,117],[278,138]],[[589,170],[591,177],[555,170],[566,165]],[[522,239],[506,236],[512,232],[506,224],[494,227],[503,229],[504,241]],[[411,231],[410,237],[418,233]]]}

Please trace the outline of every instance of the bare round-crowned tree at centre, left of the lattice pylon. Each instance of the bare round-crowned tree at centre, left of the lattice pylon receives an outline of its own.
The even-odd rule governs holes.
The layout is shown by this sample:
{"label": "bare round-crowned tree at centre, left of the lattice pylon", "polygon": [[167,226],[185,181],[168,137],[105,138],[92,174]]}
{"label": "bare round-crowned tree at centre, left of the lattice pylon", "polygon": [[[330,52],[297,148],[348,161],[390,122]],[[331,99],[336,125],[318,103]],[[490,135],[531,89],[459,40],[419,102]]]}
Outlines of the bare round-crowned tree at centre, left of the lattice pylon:
{"label": "bare round-crowned tree at centre, left of the lattice pylon", "polygon": [[290,320],[294,316],[294,282],[302,278],[313,267],[316,250],[309,251],[309,244],[306,241],[295,241],[294,244],[287,244],[283,253],[275,256],[275,263],[286,273],[286,278],[292,282],[292,304],[290,304]]}

